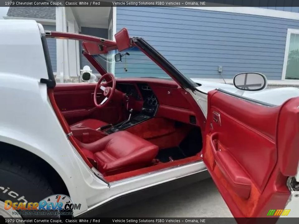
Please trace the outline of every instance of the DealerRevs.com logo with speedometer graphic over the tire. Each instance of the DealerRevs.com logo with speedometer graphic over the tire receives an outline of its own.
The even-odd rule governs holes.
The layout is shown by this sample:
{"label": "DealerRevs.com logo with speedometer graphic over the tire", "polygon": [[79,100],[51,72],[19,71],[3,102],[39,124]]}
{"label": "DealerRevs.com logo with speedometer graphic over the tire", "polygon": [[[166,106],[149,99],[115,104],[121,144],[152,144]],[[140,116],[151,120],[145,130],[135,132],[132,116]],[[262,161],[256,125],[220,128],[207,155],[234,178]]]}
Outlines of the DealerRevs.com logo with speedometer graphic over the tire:
{"label": "DealerRevs.com logo with speedometer graphic over the tire", "polygon": [[40,202],[12,202],[4,201],[4,209],[13,209],[19,215],[73,215],[73,210],[80,210],[81,204],[73,203],[64,194],[51,195]]}

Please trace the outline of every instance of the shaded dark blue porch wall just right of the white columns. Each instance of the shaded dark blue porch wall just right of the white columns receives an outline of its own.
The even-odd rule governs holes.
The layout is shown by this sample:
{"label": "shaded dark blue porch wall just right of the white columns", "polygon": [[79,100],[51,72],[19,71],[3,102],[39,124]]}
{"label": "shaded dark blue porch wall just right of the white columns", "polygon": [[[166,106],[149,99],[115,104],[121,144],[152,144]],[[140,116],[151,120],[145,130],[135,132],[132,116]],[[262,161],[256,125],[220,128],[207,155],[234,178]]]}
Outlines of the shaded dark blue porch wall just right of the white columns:
{"label": "shaded dark blue porch wall just right of the white columns", "polygon": [[[81,27],[80,34],[91,35],[96,37],[108,38],[108,29],[102,28],[93,28],[93,27]],[[80,45],[80,69],[83,69],[85,65],[88,65],[93,73],[98,73],[98,71],[92,66],[91,63],[84,57],[82,54],[82,41],[79,43]],[[106,69],[106,63],[102,65]]]}

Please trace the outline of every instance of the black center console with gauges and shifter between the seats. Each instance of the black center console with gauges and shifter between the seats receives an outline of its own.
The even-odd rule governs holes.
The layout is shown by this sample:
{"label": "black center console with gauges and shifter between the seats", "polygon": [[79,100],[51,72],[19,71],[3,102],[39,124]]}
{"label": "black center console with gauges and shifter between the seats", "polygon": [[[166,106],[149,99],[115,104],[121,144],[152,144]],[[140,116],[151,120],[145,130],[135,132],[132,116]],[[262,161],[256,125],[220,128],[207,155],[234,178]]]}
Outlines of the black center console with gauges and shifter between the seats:
{"label": "black center console with gauges and shifter between the seats", "polygon": [[106,131],[104,131],[106,134],[112,134],[117,131],[125,130],[136,124],[144,122],[145,120],[153,118],[156,114],[159,104],[150,86],[143,83],[139,83],[137,84],[137,86],[144,100],[140,113],[134,116],[130,116],[129,119],[107,129]]}

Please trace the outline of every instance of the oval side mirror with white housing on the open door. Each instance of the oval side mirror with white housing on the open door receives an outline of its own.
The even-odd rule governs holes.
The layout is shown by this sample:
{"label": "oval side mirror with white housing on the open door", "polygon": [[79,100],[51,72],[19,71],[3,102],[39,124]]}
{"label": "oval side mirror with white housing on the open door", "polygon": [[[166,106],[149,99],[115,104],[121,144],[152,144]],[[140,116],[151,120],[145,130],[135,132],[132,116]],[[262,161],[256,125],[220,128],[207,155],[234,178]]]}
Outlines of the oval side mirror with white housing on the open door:
{"label": "oval side mirror with white housing on the open door", "polygon": [[267,78],[262,73],[244,72],[236,74],[234,86],[240,90],[259,91],[267,87]]}

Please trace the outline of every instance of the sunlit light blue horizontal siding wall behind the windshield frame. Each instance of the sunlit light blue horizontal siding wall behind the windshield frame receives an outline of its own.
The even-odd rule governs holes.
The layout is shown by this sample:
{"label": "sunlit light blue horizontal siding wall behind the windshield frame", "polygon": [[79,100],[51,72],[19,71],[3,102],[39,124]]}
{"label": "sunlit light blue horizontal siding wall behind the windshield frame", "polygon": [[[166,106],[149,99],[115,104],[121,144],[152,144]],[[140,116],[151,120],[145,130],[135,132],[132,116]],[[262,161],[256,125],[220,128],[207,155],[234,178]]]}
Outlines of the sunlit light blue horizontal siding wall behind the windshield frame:
{"label": "sunlit light blue horizontal siding wall behind the windshield frame", "polygon": [[117,31],[144,37],[188,77],[282,76],[287,28],[299,21],[174,7],[117,7]]}

